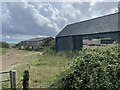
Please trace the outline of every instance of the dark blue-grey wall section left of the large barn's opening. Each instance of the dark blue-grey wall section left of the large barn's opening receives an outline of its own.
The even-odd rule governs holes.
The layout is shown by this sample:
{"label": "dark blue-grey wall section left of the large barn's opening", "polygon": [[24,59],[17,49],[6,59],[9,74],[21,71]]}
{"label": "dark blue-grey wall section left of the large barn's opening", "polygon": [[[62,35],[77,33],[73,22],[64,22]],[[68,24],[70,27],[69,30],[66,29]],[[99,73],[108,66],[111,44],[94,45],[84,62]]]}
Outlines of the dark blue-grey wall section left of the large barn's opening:
{"label": "dark blue-grey wall section left of the large barn's opening", "polygon": [[82,48],[81,36],[56,37],[56,51],[73,51]]}

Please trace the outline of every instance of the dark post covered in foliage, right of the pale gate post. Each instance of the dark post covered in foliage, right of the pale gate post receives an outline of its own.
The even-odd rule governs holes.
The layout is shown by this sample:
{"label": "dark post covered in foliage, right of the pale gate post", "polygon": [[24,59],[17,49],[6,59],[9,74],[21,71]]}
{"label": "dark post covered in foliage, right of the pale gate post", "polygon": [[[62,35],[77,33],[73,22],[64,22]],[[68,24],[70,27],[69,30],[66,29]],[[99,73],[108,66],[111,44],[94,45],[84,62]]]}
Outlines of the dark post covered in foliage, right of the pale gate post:
{"label": "dark post covered in foliage, right of the pale gate post", "polygon": [[23,90],[28,90],[29,88],[29,71],[25,70],[23,75]]}

